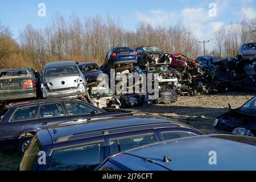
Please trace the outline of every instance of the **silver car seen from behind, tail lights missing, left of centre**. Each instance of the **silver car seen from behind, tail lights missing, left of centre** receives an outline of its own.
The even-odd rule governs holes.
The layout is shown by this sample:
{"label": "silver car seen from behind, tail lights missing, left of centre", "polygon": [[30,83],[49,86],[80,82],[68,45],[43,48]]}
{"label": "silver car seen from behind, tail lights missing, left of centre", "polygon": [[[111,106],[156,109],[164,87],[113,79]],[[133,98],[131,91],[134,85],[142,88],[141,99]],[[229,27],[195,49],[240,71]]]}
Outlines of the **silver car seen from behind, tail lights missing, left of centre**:
{"label": "silver car seen from behind, tail lights missing, left of centre", "polygon": [[43,98],[84,97],[86,81],[75,61],[58,61],[45,65],[41,89]]}

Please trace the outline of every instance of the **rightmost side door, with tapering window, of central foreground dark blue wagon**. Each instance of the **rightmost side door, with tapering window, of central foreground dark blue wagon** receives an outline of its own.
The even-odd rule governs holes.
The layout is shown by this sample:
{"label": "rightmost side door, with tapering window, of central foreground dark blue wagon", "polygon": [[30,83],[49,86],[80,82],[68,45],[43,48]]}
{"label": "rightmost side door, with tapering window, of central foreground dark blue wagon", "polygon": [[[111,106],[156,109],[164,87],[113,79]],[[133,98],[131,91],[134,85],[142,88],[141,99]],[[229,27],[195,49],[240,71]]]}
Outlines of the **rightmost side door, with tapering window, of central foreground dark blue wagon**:
{"label": "rightmost side door, with tapering window, of central foreground dark blue wagon", "polygon": [[161,141],[184,138],[184,137],[193,137],[196,135],[203,134],[200,131],[187,129],[183,127],[170,127],[170,128],[156,129],[156,133],[158,134]]}

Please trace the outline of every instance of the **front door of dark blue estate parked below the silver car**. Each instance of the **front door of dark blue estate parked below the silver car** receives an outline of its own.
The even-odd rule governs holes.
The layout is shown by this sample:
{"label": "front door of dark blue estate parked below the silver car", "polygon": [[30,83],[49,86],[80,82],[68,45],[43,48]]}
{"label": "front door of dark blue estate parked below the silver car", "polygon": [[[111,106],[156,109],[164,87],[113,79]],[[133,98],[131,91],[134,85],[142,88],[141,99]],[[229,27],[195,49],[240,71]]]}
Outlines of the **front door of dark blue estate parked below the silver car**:
{"label": "front door of dark blue estate parked below the silver car", "polygon": [[67,101],[64,102],[64,106],[71,122],[86,122],[99,118],[108,118],[107,115],[104,117],[105,113],[101,110],[82,102]]}

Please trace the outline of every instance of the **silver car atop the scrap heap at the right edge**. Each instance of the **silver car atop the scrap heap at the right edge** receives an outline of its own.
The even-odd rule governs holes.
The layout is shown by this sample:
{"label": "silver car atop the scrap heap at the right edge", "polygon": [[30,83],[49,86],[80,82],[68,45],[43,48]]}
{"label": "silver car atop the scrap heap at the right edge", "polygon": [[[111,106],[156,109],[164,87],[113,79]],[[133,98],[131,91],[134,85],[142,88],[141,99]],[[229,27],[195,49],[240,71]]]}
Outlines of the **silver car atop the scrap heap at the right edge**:
{"label": "silver car atop the scrap heap at the right edge", "polygon": [[256,60],[256,42],[243,44],[237,57],[243,60]]}

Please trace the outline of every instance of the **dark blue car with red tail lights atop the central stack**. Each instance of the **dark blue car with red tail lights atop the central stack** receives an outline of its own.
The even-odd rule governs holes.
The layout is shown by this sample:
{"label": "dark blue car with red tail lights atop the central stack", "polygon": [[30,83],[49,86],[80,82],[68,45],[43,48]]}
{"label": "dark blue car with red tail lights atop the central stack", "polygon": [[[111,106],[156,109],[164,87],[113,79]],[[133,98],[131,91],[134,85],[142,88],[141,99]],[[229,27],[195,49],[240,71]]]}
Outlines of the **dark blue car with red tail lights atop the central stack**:
{"label": "dark blue car with red tail lights atop the central stack", "polygon": [[104,73],[110,72],[110,69],[126,70],[137,63],[137,52],[130,47],[115,47],[111,49],[105,57],[101,67]]}

